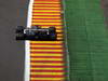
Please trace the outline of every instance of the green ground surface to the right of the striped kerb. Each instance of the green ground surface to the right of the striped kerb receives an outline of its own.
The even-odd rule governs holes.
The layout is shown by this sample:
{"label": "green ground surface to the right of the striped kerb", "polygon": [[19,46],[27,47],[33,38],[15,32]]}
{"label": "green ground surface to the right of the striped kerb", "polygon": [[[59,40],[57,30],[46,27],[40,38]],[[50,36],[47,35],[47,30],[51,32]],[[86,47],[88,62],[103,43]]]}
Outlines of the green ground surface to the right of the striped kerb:
{"label": "green ground surface to the right of the striped kerb", "polygon": [[108,38],[100,0],[65,0],[70,81],[108,81]]}

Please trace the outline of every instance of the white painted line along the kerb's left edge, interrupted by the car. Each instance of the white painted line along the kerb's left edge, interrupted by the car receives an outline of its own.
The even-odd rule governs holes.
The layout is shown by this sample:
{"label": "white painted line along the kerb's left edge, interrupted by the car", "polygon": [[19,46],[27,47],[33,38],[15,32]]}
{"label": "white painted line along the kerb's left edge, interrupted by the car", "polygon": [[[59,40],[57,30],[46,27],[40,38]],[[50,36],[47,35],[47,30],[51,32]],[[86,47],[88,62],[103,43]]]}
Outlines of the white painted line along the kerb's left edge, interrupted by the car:
{"label": "white painted line along the kerb's left edge, interrupted by the car", "polygon": [[[31,27],[32,19],[32,4],[33,0],[29,1],[28,5],[28,15],[27,15],[27,27]],[[30,42],[25,41],[25,72],[24,72],[24,81],[30,81]]]}

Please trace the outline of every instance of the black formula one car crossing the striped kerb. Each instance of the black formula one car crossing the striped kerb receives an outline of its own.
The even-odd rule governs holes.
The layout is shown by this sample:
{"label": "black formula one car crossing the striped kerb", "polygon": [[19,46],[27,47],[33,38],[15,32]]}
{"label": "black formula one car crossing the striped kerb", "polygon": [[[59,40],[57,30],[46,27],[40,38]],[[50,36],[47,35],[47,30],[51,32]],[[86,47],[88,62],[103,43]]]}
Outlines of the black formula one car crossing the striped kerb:
{"label": "black formula one car crossing the striped kerb", "polygon": [[56,28],[41,28],[40,26],[32,26],[31,28],[25,28],[24,26],[17,26],[16,40],[56,40]]}

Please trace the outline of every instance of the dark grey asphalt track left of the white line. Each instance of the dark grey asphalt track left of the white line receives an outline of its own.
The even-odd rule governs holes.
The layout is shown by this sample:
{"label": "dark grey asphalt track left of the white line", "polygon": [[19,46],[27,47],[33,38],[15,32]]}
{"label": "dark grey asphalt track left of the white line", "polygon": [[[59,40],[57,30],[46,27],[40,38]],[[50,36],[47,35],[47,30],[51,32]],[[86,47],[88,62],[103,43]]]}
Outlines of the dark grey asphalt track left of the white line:
{"label": "dark grey asphalt track left of the white line", "polygon": [[24,81],[24,41],[15,27],[26,26],[28,0],[0,0],[0,81]]}

